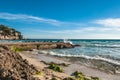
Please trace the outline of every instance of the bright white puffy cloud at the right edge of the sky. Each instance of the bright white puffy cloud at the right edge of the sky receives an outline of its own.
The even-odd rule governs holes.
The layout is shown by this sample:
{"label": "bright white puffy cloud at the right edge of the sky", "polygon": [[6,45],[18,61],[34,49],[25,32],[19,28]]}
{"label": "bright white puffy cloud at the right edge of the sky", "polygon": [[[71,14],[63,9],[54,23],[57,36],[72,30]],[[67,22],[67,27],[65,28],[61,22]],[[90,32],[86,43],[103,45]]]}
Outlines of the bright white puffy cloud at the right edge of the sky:
{"label": "bright white puffy cloud at the right edge of the sky", "polygon": [[120,18],[108,18],[96,20],[94,23],[101,24],[105,27],[120,27]]}

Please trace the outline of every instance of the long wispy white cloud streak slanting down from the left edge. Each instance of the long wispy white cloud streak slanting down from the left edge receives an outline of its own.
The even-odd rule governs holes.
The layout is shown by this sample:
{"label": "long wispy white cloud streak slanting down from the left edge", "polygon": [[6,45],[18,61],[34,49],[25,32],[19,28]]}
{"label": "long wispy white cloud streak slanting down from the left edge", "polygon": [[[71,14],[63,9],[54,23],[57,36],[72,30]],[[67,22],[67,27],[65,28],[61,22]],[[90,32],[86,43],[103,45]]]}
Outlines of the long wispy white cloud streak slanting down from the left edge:
{"label": "long wispy white cloud streak slanting down from the left edge", "polygon": [[32,16],[32,15],[25,15],[25,14],[0,13],[0,19],[41,22],[41,23],[51,24],[54,26],[61,26],[61,25],[79,26],[79,25],[82,25],[81,23],[64,22],[64,21],[59,21],[59,20],[55,20],[55,19],[48,19],[48,18],[42,18],[42,17]]}

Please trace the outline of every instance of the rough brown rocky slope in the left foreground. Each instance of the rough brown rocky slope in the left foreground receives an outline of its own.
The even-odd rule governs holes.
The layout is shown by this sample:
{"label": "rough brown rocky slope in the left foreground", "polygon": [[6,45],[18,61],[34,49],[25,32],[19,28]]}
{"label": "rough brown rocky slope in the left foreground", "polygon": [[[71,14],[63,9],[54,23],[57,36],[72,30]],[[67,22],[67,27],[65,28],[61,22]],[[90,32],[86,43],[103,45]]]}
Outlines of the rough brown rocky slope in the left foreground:
{"label": "rough brown rocky slope in the left foreground", "polygon": [[6,46],[0,46],[0,80],[36,80],[37,69]]}

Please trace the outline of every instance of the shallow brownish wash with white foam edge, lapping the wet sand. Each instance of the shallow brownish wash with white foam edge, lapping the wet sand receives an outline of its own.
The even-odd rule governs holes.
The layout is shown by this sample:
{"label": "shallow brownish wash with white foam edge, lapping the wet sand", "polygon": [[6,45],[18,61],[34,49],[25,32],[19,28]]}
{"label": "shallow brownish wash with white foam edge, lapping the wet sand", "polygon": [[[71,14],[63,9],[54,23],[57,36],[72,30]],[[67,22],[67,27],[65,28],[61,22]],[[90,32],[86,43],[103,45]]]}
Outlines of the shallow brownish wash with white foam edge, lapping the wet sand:
{"label": "shallow brownish wash with white foam edge, lapping the wet sand", "polygon": [[88,58],[87,57],[86,58],[86,56],[85,57],[83,57],[83,56],[65,56],[64,54],[59,55],[59,54],[55,54],[53,52],[51,53],[51,52],[45,51],[45,50],[41,50],[41,51],[38,50],[36,53],[48,54],[50,57],[54,56],[53,58],[57,57],[57,58],[60,58],[62,60],[68,61],[68,62],[89,66],[91,68],[95,68],[95,69],[104,71],[106,73],[120,75],[120,63],[114,62],[115,60],[111,60],[111,59],[107,59],[107,58],[103,59],[102,57],[100,57],[100,58]]}

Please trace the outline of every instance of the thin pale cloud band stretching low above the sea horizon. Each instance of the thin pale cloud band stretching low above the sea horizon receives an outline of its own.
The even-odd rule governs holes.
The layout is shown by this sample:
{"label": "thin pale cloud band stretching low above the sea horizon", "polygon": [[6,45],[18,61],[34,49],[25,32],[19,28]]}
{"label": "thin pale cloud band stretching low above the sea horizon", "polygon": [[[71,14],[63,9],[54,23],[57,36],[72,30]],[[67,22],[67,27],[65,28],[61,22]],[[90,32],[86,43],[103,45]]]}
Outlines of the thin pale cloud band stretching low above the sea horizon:
{"label": "thin pale cloud band stretching low above the sea horizon", "polygon": [[[38,33],[49,33],[49,34],[81,34],[81,33],[94,33],[97,31],[98,33],[106,32],[113,30],[111,28],[96,28],[96,27],[87,27],[87,28],[78,28],[78,29],[67,29],[67,30],[38,30],[31,29],[30,31],[38,32]],[[116,30],[115,30],[116,31]]]}

